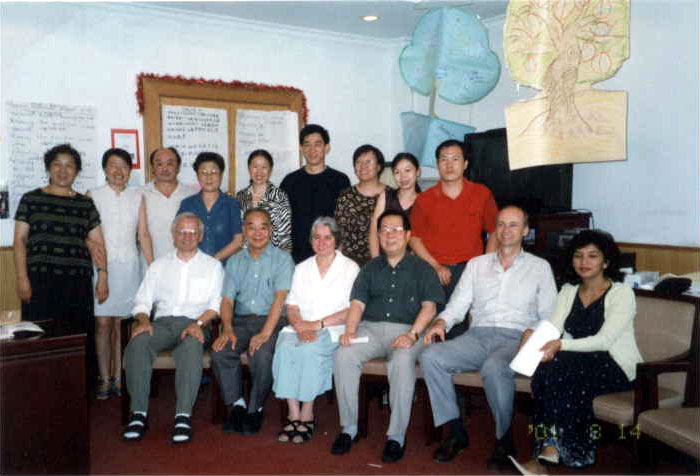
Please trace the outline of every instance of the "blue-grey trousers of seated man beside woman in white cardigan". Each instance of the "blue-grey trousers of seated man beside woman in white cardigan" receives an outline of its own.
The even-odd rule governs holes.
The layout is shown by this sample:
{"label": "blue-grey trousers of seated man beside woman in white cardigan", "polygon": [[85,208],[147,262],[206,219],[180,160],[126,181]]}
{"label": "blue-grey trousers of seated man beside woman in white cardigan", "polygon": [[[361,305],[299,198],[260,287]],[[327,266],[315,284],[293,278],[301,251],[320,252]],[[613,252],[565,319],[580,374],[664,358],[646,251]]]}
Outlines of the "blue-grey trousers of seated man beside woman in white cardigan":
{"label": "blue-grey trousers of seated man beside woman in white cardigan", "polygon": [[518,352],[521,332],[503,327],[472,327],[459,337],[429,345],[420,366],[430,394],[435,426],[459,418],[452,375],[479,371],[496,422],[496,438],[510,427],[515,397],[515,373],[510,362]]}

